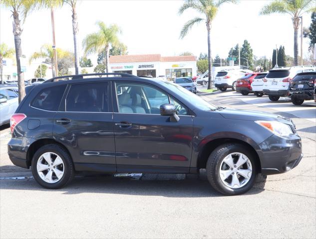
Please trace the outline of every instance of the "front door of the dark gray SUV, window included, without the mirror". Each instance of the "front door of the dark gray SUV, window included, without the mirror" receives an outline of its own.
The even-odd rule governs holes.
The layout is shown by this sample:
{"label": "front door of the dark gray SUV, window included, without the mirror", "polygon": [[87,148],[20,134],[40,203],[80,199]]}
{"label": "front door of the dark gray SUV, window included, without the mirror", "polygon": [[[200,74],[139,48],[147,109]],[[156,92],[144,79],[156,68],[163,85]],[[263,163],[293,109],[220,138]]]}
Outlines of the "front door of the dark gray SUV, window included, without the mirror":
{"label": "front door of the dark gray SUV, window included, without the mirror", "polygon": [[[193,119],[188,109],[147,84],[116,82],[113,95],[117,171],[189,172]],[[168,103],[177,107],[178,122],[160,115],[160,106]]]}

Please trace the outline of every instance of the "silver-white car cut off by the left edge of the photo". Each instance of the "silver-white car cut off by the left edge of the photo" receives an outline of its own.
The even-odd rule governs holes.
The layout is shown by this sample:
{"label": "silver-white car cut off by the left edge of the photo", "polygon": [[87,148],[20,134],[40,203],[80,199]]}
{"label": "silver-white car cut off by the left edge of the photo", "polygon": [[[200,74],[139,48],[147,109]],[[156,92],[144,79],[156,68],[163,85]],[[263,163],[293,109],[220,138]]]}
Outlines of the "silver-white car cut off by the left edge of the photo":
{"label": "silver-white car cut off by the left edge of the photo", "polygon": [[3,86],[0,88],[0,125],[8,123],[11,115],[18,106],[16,87]]}

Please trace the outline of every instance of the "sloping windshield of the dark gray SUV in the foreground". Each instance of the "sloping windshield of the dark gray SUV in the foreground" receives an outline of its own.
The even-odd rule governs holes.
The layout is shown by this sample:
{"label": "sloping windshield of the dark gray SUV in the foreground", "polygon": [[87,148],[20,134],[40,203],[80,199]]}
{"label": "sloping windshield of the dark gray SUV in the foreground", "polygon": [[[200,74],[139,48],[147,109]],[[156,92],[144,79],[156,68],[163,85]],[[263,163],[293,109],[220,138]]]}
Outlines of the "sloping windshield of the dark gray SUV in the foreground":
{"label": "sloping windshield of the dark gray SUV in the foreground", "polygon": [[[194,105],[194,107],[195,107],[194,109],[198,108],[202,111],[214,111],[217,109],[216,106],[206,102],[201,97],[197,96],[196,94],[186,90],[185,88],[183,88],[177,84],[174,84],[174,83],[168,82],[168,81],[160,81],[159,83],[161,85],[167,87],[169,90],[175,92],[180,97],[189,100],[190,103],[192,105]],[[192,109],[192,110],[194,110],[194,109]]]}

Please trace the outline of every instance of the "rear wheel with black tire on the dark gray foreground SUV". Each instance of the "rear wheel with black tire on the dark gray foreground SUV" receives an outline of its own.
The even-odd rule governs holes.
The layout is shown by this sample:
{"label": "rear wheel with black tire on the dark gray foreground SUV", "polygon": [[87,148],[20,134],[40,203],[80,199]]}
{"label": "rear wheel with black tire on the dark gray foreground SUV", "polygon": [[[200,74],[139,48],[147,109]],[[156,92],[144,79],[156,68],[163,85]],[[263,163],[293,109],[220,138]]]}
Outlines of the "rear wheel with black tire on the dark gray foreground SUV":
{"label": "rear wheel with black tire on the dark gray foreground SUV", "polygon": [[[44,158],[43,154],[45,153],[46,155]],[[59,158],[57,158],[57,156],[59,156]],[[57,159],[58,162],[56,162]],[[51,165],[48,164],[49,160]],[[35,152],[32,158],[31,165],[34,179],[40,186],[44,188],[62,188],[67,185],[74,177],[74,166],[69,153],[57,144],[47,144],[40,147]],[[60,174],[58,174],[60,178],[57,177],[57,170],[58,173],[62,172],[61,176]],[[44,180],[43,178],[46,178],[46,180]]]}

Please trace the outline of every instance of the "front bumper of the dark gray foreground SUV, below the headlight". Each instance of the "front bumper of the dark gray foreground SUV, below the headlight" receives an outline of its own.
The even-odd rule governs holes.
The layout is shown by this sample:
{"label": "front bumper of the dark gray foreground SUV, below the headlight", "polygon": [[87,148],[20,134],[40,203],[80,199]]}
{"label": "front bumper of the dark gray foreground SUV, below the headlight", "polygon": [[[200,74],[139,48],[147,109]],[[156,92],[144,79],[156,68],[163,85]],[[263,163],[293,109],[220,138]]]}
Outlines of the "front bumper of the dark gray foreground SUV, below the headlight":
{"label": "front bumper of the dark gray foreground SUV, below the headlight", "polygon": [[302,140],[297,134],[289,138],[272,135],[258,145],[256,150],[261,163],[261,173],[285,173],[295,168],[303,158]]}

